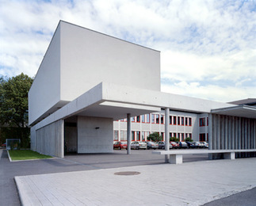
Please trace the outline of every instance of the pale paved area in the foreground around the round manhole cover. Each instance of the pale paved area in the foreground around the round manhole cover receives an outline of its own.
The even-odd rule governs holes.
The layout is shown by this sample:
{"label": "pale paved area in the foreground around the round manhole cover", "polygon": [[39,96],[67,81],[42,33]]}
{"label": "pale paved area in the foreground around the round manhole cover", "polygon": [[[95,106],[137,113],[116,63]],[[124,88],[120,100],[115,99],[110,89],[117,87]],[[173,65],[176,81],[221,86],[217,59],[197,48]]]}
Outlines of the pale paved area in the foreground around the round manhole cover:
{"label": "pale paved area in the foreground around the round manhole cover", "polygon": [[[116,175],[136,171],[137,175]],[[256,158],[15,177],[29,205],[201,205],[256,186]]]}

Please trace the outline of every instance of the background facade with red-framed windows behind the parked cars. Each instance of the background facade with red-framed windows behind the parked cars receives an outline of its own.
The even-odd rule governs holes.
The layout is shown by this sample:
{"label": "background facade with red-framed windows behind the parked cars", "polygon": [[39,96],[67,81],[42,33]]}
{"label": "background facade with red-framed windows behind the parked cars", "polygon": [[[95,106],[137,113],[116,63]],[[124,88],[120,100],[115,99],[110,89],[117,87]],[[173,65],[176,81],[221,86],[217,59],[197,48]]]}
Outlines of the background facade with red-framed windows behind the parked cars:
{"label": "background facade with red-framed windows behind the parked cars", "polygon": [[[165,140],[165,112],[149,113],[132,117],[132,141],[147,141],[147,136],[154,132]],[[170,110],[169,137],[180,141],[191,138],[194,141],[208,141],[208,114],[184,113]],[[127,119],[113,123],[113,141],[127,140]]]}

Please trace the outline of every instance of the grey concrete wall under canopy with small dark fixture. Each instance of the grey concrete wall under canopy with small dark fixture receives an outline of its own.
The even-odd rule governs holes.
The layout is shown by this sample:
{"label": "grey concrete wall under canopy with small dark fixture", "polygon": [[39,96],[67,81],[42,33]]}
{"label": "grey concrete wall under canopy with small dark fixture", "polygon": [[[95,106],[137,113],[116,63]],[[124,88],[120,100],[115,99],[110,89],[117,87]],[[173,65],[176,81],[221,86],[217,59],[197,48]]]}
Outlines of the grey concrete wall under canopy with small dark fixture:
{"label": "grey concrete wall under canopy with small dark fixture", "polygon": [[78,153],[105,152],[113,152],[113,119],[78,116]]}

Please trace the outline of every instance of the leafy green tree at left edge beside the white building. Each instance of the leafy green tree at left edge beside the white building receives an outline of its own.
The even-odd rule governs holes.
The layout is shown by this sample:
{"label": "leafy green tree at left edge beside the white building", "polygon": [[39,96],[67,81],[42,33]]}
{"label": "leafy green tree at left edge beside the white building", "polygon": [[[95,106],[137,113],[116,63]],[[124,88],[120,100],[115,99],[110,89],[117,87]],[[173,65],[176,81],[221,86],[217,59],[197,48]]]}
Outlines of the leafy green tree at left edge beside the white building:
{"label": "leafy green tree at left edge beside the white building", "polygon": [[28,93],[33,79],[21,73],[0,78],[0,123],[9,127],[28,127]]}

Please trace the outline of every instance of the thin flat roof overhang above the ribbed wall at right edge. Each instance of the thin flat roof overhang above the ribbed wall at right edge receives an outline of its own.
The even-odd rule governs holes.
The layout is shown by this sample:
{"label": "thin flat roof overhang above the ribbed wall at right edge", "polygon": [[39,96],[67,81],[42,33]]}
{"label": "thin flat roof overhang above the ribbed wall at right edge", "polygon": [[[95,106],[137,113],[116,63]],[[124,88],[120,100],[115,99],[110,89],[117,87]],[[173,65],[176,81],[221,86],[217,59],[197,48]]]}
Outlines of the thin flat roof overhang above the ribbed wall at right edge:
{"label": "thin flat roof overhang above the ribbed wall at right edge", "polygon": [[247,105],[239,105],[222,109],[212,109],[211,113],[256,119],[256,107]]}

